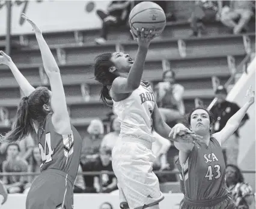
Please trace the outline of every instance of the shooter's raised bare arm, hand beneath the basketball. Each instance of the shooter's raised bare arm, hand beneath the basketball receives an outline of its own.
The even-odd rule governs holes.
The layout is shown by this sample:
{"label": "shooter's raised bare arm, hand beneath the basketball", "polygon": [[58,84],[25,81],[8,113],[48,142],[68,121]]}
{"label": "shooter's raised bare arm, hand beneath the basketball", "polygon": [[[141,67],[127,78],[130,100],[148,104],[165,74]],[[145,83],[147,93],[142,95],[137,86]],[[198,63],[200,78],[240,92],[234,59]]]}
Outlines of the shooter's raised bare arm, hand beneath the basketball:
{"label": "shooter's raised bare arm, hand beneath the basketball", "polygon": [[[132,31],[130,31],[133,35],[133,38],[138,42],[138,52],[135,57],[135,61],[130,68],[129,74],[127,78],[118,77],[112,83],[112,91],[114,93],[129,93],[133,92],[133,90],[138,89],[141,83],[141,77],[144,70],[145,59],[148,52],[148,47],[150,46],[150,41],[153,40],[155,35],[151,35],[152,31],[148,33],[148,35],[144,34],[144,28],[139,31],[137,29],[138,38],[135,38],[135,35]],[[116,54],[115,56],[118,56]]]}

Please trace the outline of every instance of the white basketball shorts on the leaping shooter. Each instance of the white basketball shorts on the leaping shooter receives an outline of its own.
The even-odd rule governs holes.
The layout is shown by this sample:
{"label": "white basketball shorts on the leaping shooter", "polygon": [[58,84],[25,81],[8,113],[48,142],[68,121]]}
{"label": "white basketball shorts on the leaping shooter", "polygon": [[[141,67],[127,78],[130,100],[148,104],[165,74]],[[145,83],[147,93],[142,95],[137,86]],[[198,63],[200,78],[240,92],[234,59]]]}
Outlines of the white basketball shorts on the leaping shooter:
{"label": "white basketball shorts on the leaping shooter", "polygon": [[118,140],[112,150],[112,166],[118,180],[120,205],[127,203],[130,209],[142,209],[163,200],[158,178],[152,172],[155,158],[151,143],[145,140]]}

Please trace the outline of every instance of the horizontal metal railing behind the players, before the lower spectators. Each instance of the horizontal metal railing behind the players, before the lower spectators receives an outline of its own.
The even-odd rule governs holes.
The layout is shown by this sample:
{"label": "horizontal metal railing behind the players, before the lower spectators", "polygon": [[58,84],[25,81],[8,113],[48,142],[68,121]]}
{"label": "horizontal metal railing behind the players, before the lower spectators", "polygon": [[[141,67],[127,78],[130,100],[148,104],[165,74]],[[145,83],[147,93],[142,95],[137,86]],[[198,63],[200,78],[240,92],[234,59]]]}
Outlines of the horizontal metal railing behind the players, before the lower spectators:
{"label": "horizontal metal railing behind the players, before the lower spectators", "polygon": [[[156,175],[163,174],[179,174],[178,171],[154,171]],[[243,174],[255,174],[255,171],[242,171]],[[40,172],[0,172],[0,176],[13,176],[13,175],[22,175],[22,176],[34,176],[40,175]],[[112,171],[87,171],[87,172],[78,172],[78,175],[85,176],[96,176],[99,177],[100,183],[100,192],[102,192],[102,175],[115,175]]]}

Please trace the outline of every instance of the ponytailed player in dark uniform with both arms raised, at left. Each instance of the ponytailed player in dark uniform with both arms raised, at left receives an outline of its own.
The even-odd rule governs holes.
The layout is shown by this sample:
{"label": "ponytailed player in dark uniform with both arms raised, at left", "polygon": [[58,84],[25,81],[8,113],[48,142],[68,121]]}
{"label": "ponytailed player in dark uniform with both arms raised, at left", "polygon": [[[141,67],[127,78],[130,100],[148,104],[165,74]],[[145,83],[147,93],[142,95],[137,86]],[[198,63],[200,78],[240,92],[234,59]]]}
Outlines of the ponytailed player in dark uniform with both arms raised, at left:
{"label": "ponytailed player in dark uniform with both arms raised, at left", "polygon": [[26,209],[71,209],[82,138],[70,123],[58,65],[40,29],[25,14],[22,17],[35,31],[52,92],[46,87],[34,89],[11,58],[1,52],[0,62],[10,67],[25,94],[17,110],[14,129],[2,140],[13,143],[22,140],[29,132],[37,133],[43,163],[41,174],[35,178],[28,192]]}

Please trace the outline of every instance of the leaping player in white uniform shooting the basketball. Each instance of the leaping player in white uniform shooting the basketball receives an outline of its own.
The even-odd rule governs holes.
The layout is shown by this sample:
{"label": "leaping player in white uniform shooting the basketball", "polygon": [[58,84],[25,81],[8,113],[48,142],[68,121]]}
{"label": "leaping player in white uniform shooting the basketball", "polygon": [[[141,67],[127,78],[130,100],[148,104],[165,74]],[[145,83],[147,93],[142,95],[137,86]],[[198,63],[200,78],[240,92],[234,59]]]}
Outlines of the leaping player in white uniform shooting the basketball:
{"label": "leaping player in white uniform shooting the basketball", "polygon": [[[159,181],[152,172],[155,156],[151,151],[154,141],[152,130],[169,138],[171,128],[163,122],[150,84],[141,81],[151,32],[138,32],[138,53],[133,62],[129,54],[103,53],[96,57],[94,75],[103,84],[101,99],[112,99],[114,110],[121,122],[120,140],[112,150],[112,166],[118,180],[120,207],[130,209],[159,209],[163,195]],[[133,34],[133,37],[135,35]],[[108,104],[108,103],[107,103]],[[197,143],[200,138],[183,125],[174,129],[187,132],[175,141]],[[173,140],[173,138],[169,138]]]}

